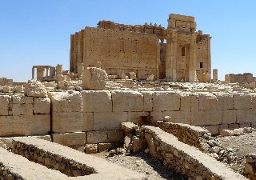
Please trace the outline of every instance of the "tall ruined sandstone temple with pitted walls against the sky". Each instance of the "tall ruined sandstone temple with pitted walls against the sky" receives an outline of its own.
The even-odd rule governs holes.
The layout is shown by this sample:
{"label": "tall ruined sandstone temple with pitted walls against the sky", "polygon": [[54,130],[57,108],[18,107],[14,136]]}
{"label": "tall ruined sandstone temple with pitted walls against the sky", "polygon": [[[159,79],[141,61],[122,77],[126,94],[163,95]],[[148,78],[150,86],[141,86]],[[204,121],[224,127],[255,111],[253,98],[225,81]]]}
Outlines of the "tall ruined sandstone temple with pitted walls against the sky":
{"label": "tall ruined sandstone temple with pitted walls against the sky", "polygon": [[100,66],[109,75],[134,72],[138,80],[210,82],[210,35],[196,31],[194,17],[170,14],[168,27],[110,21],[71,35],[70,72]]}

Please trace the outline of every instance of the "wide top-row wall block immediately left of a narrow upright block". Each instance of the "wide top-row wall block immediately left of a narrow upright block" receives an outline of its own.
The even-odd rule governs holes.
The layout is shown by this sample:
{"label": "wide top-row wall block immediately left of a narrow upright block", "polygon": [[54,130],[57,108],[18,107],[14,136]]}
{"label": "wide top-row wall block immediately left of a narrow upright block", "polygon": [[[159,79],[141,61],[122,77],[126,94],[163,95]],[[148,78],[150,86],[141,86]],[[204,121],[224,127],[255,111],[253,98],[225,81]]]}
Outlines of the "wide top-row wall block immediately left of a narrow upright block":
{"label": "wide top-row wall block immediately left of a narrow upright block", "polygon": [[143,111],[143,95],[136,91],[111,91],[114,112]]}

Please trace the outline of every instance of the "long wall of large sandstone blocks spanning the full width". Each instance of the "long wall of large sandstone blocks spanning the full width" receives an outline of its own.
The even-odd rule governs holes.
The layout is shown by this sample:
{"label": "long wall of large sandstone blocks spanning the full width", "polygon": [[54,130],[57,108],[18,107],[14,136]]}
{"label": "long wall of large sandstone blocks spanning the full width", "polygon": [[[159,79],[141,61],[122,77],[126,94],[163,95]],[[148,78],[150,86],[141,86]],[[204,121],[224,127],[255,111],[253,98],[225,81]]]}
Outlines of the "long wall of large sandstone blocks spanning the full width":
{"label": "long wall of large sandstone blocks spanning the full width", "polygon": [[85,90],[48,97],[0,95],[0,136],[50,134],[53,142],[88,153],[123,142],[122,122],[180,122],[222,129],[256,125],[256,94]]}

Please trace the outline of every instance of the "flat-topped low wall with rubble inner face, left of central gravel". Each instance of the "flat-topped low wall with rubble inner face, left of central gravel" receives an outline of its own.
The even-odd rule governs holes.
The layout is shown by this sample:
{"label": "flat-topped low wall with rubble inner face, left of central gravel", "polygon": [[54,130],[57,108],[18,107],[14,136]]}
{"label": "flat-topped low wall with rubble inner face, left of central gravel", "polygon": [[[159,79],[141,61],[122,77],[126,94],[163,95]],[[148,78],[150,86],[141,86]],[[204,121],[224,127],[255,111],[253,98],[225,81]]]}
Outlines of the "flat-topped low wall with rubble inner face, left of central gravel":
{"label": "flat-topped low wall with rubble inner face, left of central gravel", "polygon": [[[14,153],[59,170],[72,179],[142,179],[143,174],[38,138],[13,138]],[[122,172],[122,173],[120,173]]]}

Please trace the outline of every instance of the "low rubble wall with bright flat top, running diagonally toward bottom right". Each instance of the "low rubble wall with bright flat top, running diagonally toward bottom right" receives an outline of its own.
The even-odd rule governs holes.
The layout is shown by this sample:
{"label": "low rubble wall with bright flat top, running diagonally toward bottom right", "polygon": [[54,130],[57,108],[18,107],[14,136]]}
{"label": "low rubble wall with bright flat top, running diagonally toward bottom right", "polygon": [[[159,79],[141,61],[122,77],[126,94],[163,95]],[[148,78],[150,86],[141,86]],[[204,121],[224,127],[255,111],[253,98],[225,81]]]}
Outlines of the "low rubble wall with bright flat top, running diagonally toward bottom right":
{"label": "low rubble wall with bright flat top, running diagonally toward bottom right", "polygon": [[158,127],[142,126],[142,132],[150,155],[181,174],[193,179],[246,179],[195,147],[179,142],[174,135]]}

